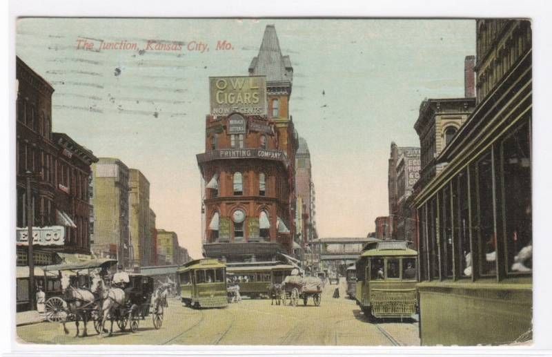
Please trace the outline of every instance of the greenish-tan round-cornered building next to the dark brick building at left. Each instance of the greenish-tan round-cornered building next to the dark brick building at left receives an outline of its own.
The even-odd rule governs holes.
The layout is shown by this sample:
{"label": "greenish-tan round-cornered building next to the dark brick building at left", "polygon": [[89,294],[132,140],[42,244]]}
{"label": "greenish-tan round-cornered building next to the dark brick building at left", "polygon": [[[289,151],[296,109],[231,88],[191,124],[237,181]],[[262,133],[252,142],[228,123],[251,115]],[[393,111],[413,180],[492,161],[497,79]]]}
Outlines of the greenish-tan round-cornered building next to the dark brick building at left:
{"label": "greenish-tan round-cornered building next to the dark brick building at left", "polygon": [[92,165],[95,239],[92,251],[100,257],[119,258],[129,267],[130,232],[128,203],[128,167],[121,160],[100,157]]}

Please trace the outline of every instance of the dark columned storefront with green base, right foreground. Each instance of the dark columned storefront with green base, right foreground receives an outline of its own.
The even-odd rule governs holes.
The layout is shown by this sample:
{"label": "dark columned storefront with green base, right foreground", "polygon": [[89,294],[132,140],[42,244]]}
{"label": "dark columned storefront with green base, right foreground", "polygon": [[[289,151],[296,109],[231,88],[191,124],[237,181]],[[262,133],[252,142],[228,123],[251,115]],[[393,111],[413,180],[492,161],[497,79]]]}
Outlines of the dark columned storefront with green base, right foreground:
{"label": "dark columned storefront with green base, right foreground", "polygon": [[531,93],[529,50],[415,197],[422,345],[531,338]]}

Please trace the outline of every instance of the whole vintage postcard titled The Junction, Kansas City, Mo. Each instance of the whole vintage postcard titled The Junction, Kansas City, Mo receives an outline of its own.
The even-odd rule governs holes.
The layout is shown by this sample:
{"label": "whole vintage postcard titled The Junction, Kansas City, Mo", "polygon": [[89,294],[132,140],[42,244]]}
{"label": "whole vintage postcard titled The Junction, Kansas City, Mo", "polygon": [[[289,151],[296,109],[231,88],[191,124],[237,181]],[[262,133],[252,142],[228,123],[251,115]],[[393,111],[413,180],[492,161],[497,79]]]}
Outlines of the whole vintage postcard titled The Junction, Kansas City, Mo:
{"label": "whole vintage postcard titled The Junction, Kansas City, Mo", "polygon": [[16,25],[19,342],[532,344],[531,20]]}

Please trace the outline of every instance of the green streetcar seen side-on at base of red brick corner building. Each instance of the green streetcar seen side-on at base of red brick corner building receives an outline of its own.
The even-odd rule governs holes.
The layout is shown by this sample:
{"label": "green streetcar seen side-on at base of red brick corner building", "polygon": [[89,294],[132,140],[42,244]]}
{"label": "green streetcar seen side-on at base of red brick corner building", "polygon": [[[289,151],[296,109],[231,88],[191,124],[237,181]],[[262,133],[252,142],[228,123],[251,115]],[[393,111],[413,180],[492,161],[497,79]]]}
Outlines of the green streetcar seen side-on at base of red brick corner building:
{"label": "green streetcar seen side-on at base of red brick corner building", "polygon": [[293,270],[281,262],[226,263],[226,275],[239,285],[239,294],[250,298],[268,296],[271,284],[281,284]]}

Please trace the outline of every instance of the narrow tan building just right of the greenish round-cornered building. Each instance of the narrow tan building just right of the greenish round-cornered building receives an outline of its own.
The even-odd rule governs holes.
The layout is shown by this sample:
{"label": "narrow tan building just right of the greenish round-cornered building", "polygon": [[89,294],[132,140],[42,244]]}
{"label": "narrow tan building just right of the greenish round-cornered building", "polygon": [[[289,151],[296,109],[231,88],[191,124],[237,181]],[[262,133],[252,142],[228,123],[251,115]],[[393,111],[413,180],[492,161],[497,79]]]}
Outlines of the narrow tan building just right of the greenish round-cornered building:
{"label": "narrow tan building just right of the greenish round-cornered building", "polygon": [[133,267],[148,267],[153,259],[150,251],[150,182],[141,171],[130,168],[130,239],[134,250]]}

